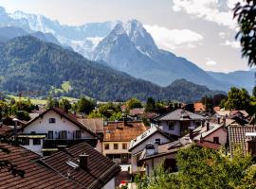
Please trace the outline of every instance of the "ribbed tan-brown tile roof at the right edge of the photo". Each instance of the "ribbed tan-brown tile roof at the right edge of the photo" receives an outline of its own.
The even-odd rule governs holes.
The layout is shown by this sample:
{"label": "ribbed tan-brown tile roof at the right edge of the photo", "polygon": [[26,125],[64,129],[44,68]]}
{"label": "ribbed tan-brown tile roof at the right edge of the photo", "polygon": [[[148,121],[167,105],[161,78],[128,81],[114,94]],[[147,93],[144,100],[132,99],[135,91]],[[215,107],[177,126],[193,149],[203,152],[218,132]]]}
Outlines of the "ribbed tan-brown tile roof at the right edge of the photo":
{"label": "ribbed tan-brown tile roof at the right edge of the photo", "polygon": [[234,151],[235,147],[242,147],[243,151],[247,152],[246,133],[256,132],[256,127],[229,127],[229,148],[230,153]]}

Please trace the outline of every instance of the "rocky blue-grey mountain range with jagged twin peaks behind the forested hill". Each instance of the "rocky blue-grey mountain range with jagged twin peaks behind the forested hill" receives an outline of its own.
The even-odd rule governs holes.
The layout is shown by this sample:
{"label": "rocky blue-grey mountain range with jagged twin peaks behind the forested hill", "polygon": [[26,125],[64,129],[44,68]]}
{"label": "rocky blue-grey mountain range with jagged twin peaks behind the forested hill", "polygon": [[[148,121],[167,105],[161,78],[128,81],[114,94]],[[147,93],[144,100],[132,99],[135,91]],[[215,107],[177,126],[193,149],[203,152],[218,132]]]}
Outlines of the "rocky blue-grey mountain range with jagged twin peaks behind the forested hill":
{"label": "rocky blue-grey mountain range with jagged twin peaks behind the forested hill", "polygon": [[46,38],[43,39],[45,42],[69,46],[89,60],[102,62],[163,87],[182,78],[223,91],[229,91],[231,86],[245,87],[250,91],[254,85],[251,72],[243,71],[244,77],[241,74],[234,77],[232,73],[206,72],[190,60],[159,49],[150,33],[137,20],[65,26],[42,15],[22,11],[7,13],[4,8],[0,8],[0,20],[0,26],[20,27],[29,34],[36,31],[50,34],[55,40],[46,41]]}

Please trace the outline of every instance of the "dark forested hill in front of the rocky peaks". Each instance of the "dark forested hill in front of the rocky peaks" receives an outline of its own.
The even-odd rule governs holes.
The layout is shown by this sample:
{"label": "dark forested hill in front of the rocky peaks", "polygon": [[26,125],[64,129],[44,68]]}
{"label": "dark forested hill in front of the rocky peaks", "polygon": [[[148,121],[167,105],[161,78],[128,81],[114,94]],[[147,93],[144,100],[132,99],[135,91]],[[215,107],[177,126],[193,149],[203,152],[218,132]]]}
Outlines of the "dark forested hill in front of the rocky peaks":
{"label": "dark forested hill in front of the rocky peaks", "polygon": [[204,95],[220,94],[185,79],[175,80],[167,87],[131,77],[97,61],[46,43],[32,36],[17,37],[0,43],[0,90],[7,93],[40,91],[46,95],[52,87],[61,88],[69,81],[66,95],[88,95],[98,100],[175,99],[183,102],[199,100]]}

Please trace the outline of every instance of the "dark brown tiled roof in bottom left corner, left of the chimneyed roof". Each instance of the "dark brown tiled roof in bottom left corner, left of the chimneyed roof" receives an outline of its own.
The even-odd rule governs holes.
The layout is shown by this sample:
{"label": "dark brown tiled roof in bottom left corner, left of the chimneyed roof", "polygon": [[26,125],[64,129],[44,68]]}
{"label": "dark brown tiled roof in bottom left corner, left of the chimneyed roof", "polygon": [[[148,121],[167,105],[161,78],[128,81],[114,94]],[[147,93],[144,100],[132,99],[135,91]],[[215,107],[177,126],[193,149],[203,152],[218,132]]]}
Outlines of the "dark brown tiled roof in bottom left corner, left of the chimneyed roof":
{"label": "dark brown tiled roof in bottom left corner, left of the chimneyed roof", "polygon": [[35,159],[39,156],[21,146],[11,146],[1,143],[0,146],[9,149],[9,153],[0,151],[0,161],[9,160],[17,166],[17,169],[25,171],[24,178],[13,176],[8,168],[2,168],[0,171],[0,188],[81,188],[71,180],[66,180],[64,177],[47,169]]}

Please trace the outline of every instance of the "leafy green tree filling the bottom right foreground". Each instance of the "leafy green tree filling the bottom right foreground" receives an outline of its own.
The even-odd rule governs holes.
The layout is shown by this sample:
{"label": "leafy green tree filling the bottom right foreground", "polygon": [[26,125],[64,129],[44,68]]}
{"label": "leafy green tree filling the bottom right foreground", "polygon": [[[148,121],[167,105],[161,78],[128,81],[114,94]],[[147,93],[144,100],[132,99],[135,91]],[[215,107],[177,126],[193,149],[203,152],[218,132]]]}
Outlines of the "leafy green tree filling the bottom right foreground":
{"label": "leafy green tree filling the bottom right foreground", "polygon": [[152,175],[137,180],[138,189],[244,189],[254,188],[256,184],[256,168],[251,156],[239,148],[230,159],[223,150],[192,145],[179,150],[176,161],[178,173],[163,169],[161,164]]}

